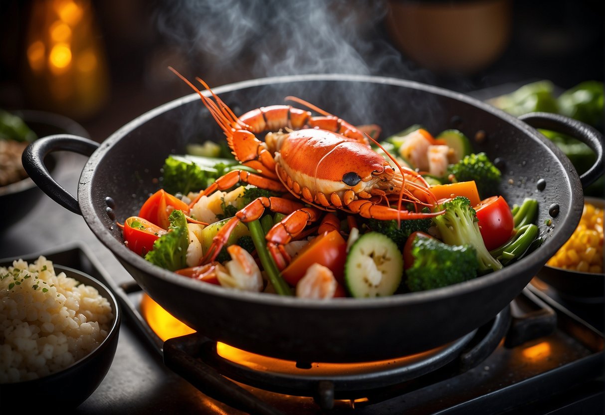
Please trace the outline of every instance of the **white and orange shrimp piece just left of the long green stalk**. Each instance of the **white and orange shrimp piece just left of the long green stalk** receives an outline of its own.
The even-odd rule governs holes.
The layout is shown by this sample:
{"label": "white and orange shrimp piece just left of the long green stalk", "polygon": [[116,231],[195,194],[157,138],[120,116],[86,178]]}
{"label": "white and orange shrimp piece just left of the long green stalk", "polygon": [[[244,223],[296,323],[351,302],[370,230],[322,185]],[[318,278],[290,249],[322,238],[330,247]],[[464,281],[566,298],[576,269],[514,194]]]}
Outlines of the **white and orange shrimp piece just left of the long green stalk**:
{"label": "white and orange shrimp piece just left of the long green stalk", "polygon": [[227,252],[231,255],[231,261],[224,263],[226,272],[217,269],[217,278],[221,286],[261,292],[264,285],[263,276],[252,255],[238,245],[228,246]]}

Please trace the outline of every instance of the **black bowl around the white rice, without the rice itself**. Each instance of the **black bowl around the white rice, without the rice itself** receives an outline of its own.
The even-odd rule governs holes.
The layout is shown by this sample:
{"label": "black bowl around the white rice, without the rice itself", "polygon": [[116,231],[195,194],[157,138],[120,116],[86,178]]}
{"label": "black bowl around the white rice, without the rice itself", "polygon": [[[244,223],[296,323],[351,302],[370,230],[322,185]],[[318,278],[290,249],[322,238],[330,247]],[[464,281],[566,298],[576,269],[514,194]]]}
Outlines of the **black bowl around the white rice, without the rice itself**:
{"label": "black bowl around the white rice, without the rice itself", "polygon": [[[10,266],[12,262],[2,260],[0,266]],[[90,275],[57,264],[53,266],[57,274],[65,272],[80,283],[96,288],[100,295],[108,299],[114,314],[109,333],[91,353],[61,371],[31,381],[0,384],[1,406],[12,403],[18,405],[20,410],[38,407],[60,410],[76,408],[99,387],[116,355],[122,322],[122,312],[116,297],[104,284]]]}

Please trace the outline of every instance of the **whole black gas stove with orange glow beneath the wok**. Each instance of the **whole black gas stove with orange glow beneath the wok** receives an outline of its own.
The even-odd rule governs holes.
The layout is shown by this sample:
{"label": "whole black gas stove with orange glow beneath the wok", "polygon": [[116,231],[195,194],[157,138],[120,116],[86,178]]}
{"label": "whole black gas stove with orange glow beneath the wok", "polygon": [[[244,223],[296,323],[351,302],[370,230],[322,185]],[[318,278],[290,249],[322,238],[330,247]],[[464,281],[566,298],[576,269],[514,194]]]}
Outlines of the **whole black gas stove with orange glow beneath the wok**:
{"label": "whole black gas stove with orange glow beneath the wok", "polygon": [[[491,322],[454,342],[352,364],[286,361],[211,341],[136,284],[122,290],[126,312],[167,367],[205,396],[249,414],[378,415],[393,408],[415,415],[508,414],[537,397],[568,396],[577,407],[577,395],[569,395],[577,385],[584,385],[590,405],[602,407],[595,400],[602,399],[603,382],[594,379],[604,370],[603,334],[531,284]],[[171,333],[159,330],[167,327]]]}

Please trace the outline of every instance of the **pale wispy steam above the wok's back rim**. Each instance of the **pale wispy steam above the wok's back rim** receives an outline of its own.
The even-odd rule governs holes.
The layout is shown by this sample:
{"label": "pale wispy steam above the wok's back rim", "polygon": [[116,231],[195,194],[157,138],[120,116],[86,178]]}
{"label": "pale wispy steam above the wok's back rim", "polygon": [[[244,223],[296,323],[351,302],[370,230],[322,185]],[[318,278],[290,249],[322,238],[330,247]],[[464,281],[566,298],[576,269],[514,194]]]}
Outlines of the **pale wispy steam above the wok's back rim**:
{"label": "pale wispy steam above the wok's back rim", "polygon": [[163,4],[157,24],[200,66],[192,71],[211,70],[221,81],[304,73],[407,77],[399,51],[380,32],[386,13],[384,1],[178,0]]}

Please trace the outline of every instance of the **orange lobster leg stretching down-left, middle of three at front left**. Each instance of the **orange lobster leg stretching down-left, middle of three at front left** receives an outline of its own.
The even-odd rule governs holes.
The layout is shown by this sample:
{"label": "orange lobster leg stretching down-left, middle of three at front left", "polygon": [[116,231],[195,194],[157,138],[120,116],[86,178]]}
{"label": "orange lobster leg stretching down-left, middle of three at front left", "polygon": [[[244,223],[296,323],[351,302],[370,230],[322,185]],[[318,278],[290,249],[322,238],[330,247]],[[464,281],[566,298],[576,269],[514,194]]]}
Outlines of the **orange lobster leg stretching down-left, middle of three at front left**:
{"label": "orange lobster leg stretching down-left, middle of three at front left", "polygon": [[263,215],[265,209],[270,209],[272,212],[276,213],[290,214],[293,211],[298,211],[300,208],[302,208],[302,204],[298,201],[281,197],[259,197],[251,201],[244,206],[243,209],[238,211],[231,220],[224,224],[224,226],[221,227],[221,230],[212,238],[212,244],[208,248],[208,251],[204,253],[201,264],[208,264],[215,260],[238,223],[246,223],[259,219]]}

